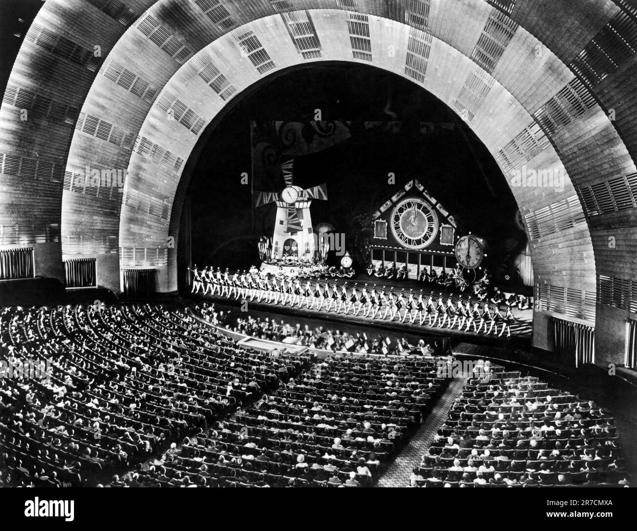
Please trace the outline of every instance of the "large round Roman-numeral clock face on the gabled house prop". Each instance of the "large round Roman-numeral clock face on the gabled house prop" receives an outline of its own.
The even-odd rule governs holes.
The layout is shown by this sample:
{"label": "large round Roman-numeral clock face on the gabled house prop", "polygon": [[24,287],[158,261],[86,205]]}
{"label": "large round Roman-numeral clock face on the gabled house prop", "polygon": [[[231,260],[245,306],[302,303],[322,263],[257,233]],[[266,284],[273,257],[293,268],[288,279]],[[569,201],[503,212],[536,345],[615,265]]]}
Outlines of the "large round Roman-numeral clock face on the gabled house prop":
{"label": "large round Roman-numeral clock face on the gabled house prop", "polygon": [[408,197],[392,211],[394,237],[408,249],[427,247],[438,234],[438,216],[424,199]]}

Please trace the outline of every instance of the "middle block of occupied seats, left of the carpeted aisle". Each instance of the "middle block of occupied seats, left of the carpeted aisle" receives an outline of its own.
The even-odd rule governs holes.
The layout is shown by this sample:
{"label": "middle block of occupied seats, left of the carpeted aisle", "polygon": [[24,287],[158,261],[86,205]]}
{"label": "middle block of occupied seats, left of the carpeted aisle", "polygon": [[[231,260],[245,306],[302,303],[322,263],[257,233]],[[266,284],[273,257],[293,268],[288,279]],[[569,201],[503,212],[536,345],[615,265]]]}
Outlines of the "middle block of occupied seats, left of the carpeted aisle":
{"label": "middle block of occupied seats, left of the carpeted aisle", "polygon": [[371,486],[447,382],[424,358],[330,358],[189,437],[134,483]]}

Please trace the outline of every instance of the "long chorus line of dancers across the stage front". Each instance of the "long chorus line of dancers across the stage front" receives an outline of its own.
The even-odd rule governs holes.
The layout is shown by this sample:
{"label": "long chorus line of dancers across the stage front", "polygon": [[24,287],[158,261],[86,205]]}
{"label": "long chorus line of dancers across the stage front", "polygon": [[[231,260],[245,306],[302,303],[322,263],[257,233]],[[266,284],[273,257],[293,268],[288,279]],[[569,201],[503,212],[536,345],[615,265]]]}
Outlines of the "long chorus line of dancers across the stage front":
{"label": "long chorus line of dancers across the stage front", "polygon": [[[373,285],[368,289],[368,284],[359,287],[358,283],[348,286],[348,283],[339,284],[336,281],[307,280],[298,278],[278,277],[273,274],[262,276],[259,273],[243,273],[237,271],[230,273],[226,268],[224,272],[220,268],[213,270],[210,267],[192,269],[194,274],[192,281],[192,293],[201,292],[203,295],[219,295],[228,299],[240,301],[249,300],[265,302],[267,304],[281,304],[282,306],[296,306],[297,308],[316,309],[326,312],[333,311],[348,315],[362,316],[371,319],[378,318],[404,323],[409,318],[413,324],[419,320],[423,325],[427,322],[429,327],[448,329],[464,329],[468,332],[473,328],[476,334],[484,333],[502,336],[505,330],[506,336],[511,336],[511,323],[517,321],[506,306],[504,313],[499,304],[491,306],[489,302],[471,301],[467,297],[459,296],[454,302],[452,295],[445,297],[440,293],[434,299],[434,295],[424,295],[423,290],[415,293],[413,290],[405,292],[402,288],[394,292],[389,289],[377,288]],[[501,329],[500,329],[501,325]],[[499,330],[499,333],[498,333]]]}

